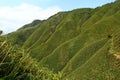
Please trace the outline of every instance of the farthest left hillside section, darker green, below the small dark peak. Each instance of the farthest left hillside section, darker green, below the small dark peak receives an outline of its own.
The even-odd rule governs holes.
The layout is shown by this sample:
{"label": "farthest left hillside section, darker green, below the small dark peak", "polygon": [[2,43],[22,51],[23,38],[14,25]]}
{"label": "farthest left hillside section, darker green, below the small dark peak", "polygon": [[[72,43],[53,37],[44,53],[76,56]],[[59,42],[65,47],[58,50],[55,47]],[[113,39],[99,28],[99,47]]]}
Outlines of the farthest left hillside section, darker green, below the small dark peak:
{"label": "farthest left hillside section, darker green, below the small dark peak", "polygon": [[37,29],[37,25],[40,25],[42,21],[34,20],[30,24],[26,24],[15,32],[7,34],[7,39],[13,45],[22,46],[28,37]]}

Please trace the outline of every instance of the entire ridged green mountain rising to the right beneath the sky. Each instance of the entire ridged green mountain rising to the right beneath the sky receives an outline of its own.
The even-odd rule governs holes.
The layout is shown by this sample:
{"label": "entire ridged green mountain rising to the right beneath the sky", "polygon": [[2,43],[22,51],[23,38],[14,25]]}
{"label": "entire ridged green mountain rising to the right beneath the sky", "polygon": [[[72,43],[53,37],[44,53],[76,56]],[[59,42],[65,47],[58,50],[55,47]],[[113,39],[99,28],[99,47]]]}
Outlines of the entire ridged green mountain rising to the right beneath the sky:
{"label": "entire ridged green mountain rising to the right beneath the sky", "polygon": [[120,1],[59,12],[7,35],[62,80],[120,79]]}

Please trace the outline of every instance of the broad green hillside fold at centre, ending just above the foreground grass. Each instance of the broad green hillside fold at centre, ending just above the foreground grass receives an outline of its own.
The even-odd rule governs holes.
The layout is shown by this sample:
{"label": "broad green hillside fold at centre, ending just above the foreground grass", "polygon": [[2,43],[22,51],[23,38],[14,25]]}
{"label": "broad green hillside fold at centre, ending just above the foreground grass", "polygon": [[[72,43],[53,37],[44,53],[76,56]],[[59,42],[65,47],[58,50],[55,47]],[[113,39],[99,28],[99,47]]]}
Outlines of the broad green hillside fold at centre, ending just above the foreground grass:
{"label": "broad green hillside fold at centre, ending just above the foreground grass", "polygon": [[49,67],[51,70],[60,71],[68,61],[81,49],[85,42],[87,35],[78,36],[69,41],[64,42],[58,46],[50,55],[40,61],[41,65]]}

